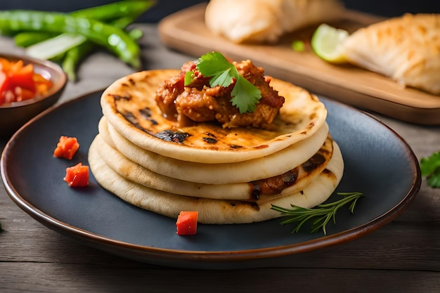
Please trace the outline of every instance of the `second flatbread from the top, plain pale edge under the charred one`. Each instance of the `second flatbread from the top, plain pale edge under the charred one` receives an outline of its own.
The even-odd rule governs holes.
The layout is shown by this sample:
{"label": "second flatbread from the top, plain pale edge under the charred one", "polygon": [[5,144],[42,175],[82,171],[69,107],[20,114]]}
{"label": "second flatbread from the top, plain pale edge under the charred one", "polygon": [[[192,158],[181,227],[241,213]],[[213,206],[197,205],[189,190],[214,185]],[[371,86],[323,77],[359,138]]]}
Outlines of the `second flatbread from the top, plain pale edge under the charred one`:
{"label": "second flatbread from the top, plain pale edge under the charred one", "polygon": [[157,174],[195,183],[229,184],[276,176],[306,162],[325,143],[328,125],[323,124],[314,136],[267,157],[224,164],[202,164],[164,157],[134,145],[110,124],[108,124],[108,132],[122,155]]}

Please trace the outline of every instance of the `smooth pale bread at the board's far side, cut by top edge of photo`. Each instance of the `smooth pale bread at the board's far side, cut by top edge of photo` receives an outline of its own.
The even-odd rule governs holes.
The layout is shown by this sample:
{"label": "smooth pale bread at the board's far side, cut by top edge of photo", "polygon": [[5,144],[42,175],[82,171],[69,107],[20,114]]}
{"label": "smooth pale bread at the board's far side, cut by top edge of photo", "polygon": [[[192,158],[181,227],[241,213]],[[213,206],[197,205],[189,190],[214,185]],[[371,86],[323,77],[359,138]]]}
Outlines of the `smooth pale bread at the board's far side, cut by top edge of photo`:
{"label": "smooth pale bread at the board's far side, cut by top edge of photo", "polygon": [[211,0],[205,23],[235,43],[276,42],[287,32],[335,20],[342,11],[338,0]]}

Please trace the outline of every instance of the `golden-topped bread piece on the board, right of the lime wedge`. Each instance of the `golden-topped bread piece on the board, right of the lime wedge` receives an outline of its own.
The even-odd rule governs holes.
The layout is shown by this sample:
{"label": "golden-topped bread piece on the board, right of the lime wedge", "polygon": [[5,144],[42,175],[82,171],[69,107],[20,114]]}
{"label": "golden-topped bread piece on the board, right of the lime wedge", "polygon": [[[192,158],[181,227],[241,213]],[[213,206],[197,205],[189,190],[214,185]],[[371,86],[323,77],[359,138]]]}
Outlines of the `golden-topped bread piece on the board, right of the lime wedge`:
{"label": "golden-topped bread piece on the board, right of the lime wedge", "polygon": [[406,14],[363,27],[345,41],[347,59],[402,85],[440,94],[440,14]]}

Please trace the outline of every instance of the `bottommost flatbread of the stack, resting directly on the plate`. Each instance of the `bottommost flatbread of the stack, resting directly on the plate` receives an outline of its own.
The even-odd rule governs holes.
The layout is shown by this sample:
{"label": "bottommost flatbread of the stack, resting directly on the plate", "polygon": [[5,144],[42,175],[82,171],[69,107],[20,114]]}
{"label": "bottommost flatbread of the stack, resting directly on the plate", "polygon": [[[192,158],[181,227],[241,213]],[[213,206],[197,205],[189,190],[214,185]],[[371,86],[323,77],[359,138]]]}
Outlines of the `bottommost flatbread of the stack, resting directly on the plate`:
{"label": "bottommost flatbread of the stack, resting directly on the plate", "polygon": [[89,166],[96,181],[110,193],[129,204],[157,214],[176,218],[180,211],[198,211],[199,223],[252,223],[280,216],[278,211],[271,209],[271,204],[280,207],[290,207],[290,204],[315,207],[327,200],[341,180],[344,169],[342,155],[336,143],[333,143],[333,148],[334,153],[326,169],[302,192],[263,204],[188,197],[145,187],[113,171],[102,159],[98,148],[93,146],[89,151]]}

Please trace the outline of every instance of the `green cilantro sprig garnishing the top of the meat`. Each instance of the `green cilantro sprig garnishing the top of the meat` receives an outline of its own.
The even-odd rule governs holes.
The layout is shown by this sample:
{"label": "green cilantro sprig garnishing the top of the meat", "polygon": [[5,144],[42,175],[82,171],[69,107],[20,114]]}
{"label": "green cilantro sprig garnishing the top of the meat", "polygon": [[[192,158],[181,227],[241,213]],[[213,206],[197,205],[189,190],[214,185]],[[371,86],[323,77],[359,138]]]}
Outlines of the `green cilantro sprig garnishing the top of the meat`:
{"label": "green cilantro sprig garnishing the top of the meat", "polygon": [[[231,92],[231,103],[240,111],[254,112],[257,103],[261,98],[261,91],[250,83],[245,77],[238,73],[237,68],[228,62],[226,58],[218,52],[210,52],[201,56],[196,65],[197,70],[204,76],[209,77],[209,86],[231,85],[235,84]],[[193,72],[186,72],[185,85],[188,86],[193,81]]]}

